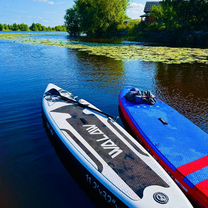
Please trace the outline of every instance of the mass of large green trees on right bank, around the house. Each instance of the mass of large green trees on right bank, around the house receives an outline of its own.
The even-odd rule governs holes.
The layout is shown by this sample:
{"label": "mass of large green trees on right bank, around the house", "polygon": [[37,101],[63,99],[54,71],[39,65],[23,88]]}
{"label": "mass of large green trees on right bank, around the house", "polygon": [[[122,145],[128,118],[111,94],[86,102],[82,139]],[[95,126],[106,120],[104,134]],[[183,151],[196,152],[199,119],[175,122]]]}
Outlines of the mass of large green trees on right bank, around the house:
{"label": "mass of large green trees on right bank, around the house", "polygon": [[66,11],[65,26],[71,36],[137,36],[146,31],[208,31],[208,0],[162,0],[153,7],[150,22],[131,20],[129,0],[75,0]]}

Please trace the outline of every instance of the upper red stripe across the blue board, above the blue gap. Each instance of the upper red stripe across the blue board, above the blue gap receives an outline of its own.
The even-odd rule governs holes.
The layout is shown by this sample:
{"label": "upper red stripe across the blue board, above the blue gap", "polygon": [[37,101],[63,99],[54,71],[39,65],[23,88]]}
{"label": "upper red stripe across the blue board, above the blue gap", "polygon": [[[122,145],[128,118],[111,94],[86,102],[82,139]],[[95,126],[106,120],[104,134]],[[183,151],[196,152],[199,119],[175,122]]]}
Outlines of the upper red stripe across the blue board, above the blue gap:
{"label": "upper red stripe across the blue board, above the blue gap", "polygon": [[205,167],[208,167],[208,156],[203,157],[203,158],[196,160],[192,163],[189,163],[187,165],[184,165],[184,166],[178,168],[178,171],[181,172],[184,176],[188,176],[188,175],[195,173]]}

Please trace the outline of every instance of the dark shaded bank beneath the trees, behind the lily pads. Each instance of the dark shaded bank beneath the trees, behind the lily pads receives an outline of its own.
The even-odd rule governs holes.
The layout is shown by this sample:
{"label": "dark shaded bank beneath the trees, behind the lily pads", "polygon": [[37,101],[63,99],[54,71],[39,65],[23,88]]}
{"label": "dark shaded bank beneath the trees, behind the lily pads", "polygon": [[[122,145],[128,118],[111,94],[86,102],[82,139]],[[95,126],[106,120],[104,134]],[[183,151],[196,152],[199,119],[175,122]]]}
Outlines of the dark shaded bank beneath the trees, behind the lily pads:
{"label": "dark shaded bank beneath the trees, behind the lily pads", "polygon": [[92,42],[136,41],[148,46],[208,48],[208,32],[203,31],[140,31],[134,36],[81,38]]}

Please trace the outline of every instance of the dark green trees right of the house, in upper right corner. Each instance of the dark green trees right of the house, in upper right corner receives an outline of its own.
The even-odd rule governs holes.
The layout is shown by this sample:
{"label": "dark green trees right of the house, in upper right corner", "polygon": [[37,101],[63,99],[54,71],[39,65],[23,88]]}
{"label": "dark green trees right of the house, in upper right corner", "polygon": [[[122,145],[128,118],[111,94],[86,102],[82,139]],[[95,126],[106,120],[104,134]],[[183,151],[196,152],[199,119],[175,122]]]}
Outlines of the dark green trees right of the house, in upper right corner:
{"label": "dark green trees right of the house, in upper right corner", "polygon": [[208,31],[208,0],[163,0],[152,9],[149,29],[159,31]]}

